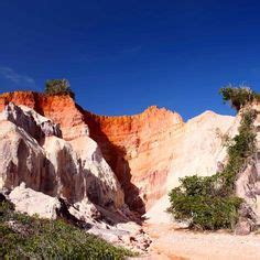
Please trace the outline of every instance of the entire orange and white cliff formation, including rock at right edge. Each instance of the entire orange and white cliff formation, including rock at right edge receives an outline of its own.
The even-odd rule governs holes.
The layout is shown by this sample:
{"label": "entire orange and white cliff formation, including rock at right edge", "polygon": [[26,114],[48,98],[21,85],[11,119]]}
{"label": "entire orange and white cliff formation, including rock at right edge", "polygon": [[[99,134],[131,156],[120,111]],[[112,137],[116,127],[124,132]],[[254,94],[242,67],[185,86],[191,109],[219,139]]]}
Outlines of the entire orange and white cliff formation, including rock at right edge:
{"label": "entire orange and white cliff formation, including rock at right edge", "polygon": [[[9,191],[17,210],[72,217],[91,234],[145,250],[150,239],[129,221],[143,213],[151,223],[171,221],[169,191],[180,177],[216,173],[227,159],[224,137],[234,137],[239,123],[239,116],[212,111],[184,122],[178,113],[154,106],[136,116],[106,117],[66,95],[3,94],[0,189]],[[258,115],[258,141],[259,129]],[[248,217],[245,207],[237,234],[252,229],[248,219],[259,224],[259,154],[237,180],[237,194],[252,209]]]}

